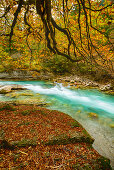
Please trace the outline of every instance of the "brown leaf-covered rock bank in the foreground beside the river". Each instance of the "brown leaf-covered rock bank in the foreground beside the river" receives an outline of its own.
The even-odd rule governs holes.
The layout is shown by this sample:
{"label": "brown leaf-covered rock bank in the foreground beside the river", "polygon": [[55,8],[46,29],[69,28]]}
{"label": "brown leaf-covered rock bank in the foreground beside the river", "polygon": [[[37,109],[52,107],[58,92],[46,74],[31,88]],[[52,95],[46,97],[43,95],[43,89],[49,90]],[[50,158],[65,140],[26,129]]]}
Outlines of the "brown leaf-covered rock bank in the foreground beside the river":
{"label": "brown leaf-covered rock bank in the foreground beside the river", "polygon": [[110,170],[109,160],[69,115],[36,105],[0,104],[0,169]]}

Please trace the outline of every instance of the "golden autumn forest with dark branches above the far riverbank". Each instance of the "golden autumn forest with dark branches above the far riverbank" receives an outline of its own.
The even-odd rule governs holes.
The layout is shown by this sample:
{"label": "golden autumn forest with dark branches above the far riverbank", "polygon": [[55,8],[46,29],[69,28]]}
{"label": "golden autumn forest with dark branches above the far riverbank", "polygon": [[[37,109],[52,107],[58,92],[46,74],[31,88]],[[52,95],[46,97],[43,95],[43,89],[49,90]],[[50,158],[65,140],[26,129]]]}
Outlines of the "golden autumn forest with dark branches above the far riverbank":
{"label": "golden autumn forest with dark branches above the far riverbank", "polygon": [[1,0],[0,72],[113,77],[111,0]]}

